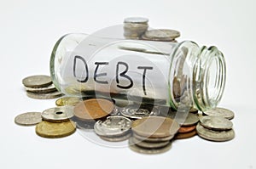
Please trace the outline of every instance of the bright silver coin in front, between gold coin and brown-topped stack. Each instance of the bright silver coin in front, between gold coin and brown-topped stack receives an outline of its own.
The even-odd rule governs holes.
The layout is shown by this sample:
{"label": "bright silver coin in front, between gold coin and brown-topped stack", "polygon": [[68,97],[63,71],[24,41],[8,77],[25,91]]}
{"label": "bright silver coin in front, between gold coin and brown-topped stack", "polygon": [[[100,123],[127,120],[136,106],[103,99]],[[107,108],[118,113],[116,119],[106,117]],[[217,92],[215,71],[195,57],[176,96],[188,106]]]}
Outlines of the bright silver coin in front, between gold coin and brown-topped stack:
{"label": "bright silver coin in front, between gold coin and brown-topped stack", "polygon": [[106,121],[96,121],[94,130],[99,136],[119,136],[128,132],[131,120],[124,116],[108,116]]}

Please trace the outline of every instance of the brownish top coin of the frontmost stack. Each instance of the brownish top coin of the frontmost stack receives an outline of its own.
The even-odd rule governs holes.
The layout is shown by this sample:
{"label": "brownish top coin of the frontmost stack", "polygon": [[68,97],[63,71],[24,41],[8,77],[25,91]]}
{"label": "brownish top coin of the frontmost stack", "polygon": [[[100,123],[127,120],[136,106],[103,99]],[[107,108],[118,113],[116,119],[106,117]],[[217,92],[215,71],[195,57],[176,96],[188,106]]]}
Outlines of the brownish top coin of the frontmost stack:
{"label": "brownish top coin of the frontmost stack", "polygon": [[168,117],[149,116],[133,121],[131,129],[143,137],[165,138],[174,135],[179,129],[179,125]]}

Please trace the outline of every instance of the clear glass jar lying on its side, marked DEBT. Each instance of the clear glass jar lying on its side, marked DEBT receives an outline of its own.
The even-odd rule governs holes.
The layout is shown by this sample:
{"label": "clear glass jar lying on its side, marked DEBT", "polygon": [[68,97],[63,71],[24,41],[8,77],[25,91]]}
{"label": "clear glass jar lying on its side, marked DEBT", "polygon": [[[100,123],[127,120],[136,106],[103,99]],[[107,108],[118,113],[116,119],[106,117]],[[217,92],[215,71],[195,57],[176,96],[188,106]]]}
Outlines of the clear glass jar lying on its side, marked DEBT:
{"label": "clear glass jar lying on its side, marked DEBT", "polygon": [[216,47],[67,34],[50,59],[55,87],[70,96],[212,109],[222,98],[225,61]]}

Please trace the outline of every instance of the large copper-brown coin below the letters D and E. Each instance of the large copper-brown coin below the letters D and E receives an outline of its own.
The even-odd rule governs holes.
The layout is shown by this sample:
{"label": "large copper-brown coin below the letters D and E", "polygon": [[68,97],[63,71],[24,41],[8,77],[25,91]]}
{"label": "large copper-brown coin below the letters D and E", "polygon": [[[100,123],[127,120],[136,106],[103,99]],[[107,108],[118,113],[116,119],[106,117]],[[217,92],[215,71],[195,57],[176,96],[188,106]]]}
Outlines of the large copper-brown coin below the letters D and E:
{"label": "large copper-brown coin below the letters D and E", "polygon": [[74,107],[74,115],[80,120],[101,119],[113,111],[114,104],[108,99],[86,99]]}

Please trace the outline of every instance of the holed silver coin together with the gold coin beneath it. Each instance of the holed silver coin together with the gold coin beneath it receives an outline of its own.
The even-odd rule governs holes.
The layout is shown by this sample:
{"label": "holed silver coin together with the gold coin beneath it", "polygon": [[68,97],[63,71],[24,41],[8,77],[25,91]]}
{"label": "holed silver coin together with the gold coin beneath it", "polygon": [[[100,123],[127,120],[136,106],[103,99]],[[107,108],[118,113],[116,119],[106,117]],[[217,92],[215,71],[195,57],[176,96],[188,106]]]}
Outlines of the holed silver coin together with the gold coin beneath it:
{"label": "holed silver coin together with the gold coin beneath it", "polygon": [[36,126],[38,136],[44,138],[63,138],[76,131],[73,117],[73,106],[62,106],[44,110],[41,121]]}

